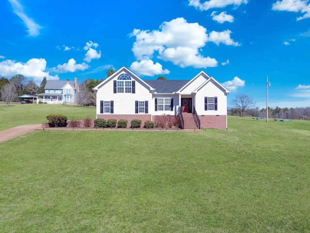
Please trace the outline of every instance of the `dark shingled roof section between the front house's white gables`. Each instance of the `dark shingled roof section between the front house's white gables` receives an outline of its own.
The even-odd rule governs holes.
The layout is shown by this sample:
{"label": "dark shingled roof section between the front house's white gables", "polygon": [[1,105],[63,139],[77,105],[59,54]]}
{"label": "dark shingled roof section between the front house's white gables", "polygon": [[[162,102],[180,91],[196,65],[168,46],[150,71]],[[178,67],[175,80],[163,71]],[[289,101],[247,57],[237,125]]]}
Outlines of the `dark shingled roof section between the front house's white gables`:
{"label": "dark shingled roof section between the front house's white gables", "polygon": [[172,93],[180,90],[189,80],[143,80],[157,93]]}

